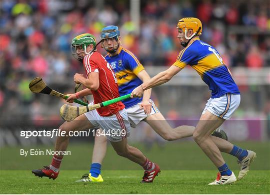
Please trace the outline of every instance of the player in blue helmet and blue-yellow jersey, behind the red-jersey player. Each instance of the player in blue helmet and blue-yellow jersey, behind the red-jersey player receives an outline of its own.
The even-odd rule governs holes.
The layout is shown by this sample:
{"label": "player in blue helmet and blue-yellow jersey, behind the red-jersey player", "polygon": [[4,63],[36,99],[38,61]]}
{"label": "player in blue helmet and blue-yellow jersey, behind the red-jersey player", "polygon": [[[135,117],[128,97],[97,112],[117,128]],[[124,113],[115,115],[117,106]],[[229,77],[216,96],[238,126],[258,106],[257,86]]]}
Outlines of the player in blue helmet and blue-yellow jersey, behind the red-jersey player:
{"label": "player in blue helmet and blue-yellow jersey, behind the red-jersey player", "polygon": [[[150,80],[138,59],[121,46],[120,32],[116,26],[107,26],[102,29],[100,38],[102,47],[108,52],[106,61],[113,68],[120,96],[131,93],[142,82]],[[150,99],[151,89],[143,92],[142,98],[133,98],[122,101],[127,111],[131,127],[135,127],[140,121],[148,123],[154,131],[165,140],[176,140],[192,136],[195,127],[179,126],[171,128],[162,114]],[[213,137],[213,136],[211,136]],[[214,140],[215,141],[215,140]],[[127,149],[132,149],[131,146]],[[95,136],[92,164],[89,173],[86,173],[78,181],[103,181],[100,175],[102,160],[106,153],[106,137]],[[157,164],[145,159],[145,172],[142,181],[151,182],[160,168]]]}

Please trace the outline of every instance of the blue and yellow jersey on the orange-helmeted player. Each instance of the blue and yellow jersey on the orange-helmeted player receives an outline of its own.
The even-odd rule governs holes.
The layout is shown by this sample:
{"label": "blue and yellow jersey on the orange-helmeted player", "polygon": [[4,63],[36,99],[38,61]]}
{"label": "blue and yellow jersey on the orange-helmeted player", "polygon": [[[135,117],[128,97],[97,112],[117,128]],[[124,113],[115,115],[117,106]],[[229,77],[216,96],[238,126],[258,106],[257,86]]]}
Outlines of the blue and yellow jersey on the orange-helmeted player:
{"label": "blue and yellow jersey on the orange-helmeted player", "polygon": [[193,39],[190,45],[179,53],[173,65],[179,68],[190,65],[195,69],[211,90],[211,98],[225,93],[240,94],[219,53],[199,38]]}

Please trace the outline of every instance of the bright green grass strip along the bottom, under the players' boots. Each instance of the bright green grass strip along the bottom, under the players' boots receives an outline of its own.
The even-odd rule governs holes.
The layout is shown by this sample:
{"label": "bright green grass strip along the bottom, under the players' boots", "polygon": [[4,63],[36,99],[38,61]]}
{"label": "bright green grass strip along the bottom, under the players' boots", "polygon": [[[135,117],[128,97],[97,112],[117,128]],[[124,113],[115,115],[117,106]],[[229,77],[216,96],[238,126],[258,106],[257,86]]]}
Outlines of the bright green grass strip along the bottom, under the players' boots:
{"label": "bright green grass strip along the bottom, under the players' boots", "polygon": [[[1,193],[270,193],[270,171],[249,171],[232,185],[208,186],[216,171],[161,171],[140,183],[142,171],[103,171],[102,183],[77,183],[85,171],[61,171],[55,180],[27,171],[0,171]],[[238,173],[238,171],[235,171]]]}

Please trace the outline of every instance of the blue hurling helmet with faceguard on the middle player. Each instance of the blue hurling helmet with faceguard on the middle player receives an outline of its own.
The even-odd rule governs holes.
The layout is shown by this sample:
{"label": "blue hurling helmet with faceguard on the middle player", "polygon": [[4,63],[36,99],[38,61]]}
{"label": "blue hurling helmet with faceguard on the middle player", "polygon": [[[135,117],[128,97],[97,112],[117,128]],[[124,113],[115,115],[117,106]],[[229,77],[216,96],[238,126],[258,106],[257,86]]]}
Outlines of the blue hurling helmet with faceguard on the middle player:
{"label": "blue hurling helmet with faceguard on the middle player", "polygon": [[[110,38],[114,38],[115,41],[117,41],[118,43],[118,37],[120,36],[120,32],[118,30],[118,27],[116,26],[107,26],[107,27],[104,27],[102,30],[101,30],[101,34],[100,34],[100,39],[102,41],[104,41],[105,39],[110,39]],[[107,46],[104,46],[104,44],[102,43],[102,46],[104,47],[104,49],[109,52],[109,53],[114,53],[117,51],[118,47],[119,47],[119,43],[114,46],[113,45],[113,50],[109,50]]]}

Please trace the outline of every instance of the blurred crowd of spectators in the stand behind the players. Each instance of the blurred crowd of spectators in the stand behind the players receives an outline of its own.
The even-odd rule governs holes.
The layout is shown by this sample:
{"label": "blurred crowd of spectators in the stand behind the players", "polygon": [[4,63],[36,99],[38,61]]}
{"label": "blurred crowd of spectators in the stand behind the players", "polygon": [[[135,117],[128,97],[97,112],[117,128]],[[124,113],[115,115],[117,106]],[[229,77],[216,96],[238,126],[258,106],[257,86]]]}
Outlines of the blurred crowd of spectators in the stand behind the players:
{"label": "blurred crowd of spectators in the stand behind the players", "polygon": [[70,53],[71,39],[87,32],[99,41],[100,30],[107,25],[119,27],[122,45],[144,66],[169,66],[175,61],[182,49],[175,27],[183,17],[201,20],[201,40],[213,45],[227,66],[270,65],[269,1],[140,1],[139,27],[131,21],[129,1],[1,0],[0,4],[0,108],[14,116],[38,118],[41,108],[50,113],[28,90],[29,81],[41,76],[58,81],[60,90],[70,88],[66,78],[83,71]]}

